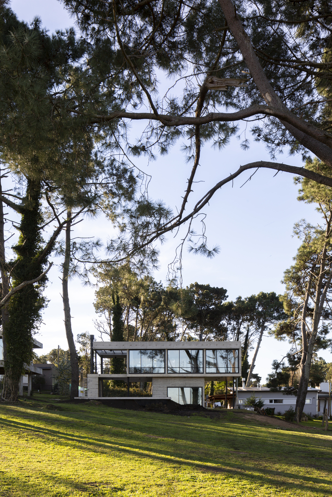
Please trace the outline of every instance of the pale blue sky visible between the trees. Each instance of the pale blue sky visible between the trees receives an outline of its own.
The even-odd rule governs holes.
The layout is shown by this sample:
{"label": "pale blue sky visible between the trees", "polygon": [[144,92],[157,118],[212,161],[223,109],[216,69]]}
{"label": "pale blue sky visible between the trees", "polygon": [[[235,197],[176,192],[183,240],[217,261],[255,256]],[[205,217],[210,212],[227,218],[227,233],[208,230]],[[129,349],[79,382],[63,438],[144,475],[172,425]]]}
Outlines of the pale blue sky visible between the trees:
{"label": "pale blue sky visible between the trees", "polygon": [[[42,25],[50,32],[75,24],[57,0],[12,0],[10,7],[19,19],[26,22],[31,22],[35,16],[40,17]],[[132,126],[132,133],[135,133],[137,126]],[[248,137],[248,130],[243,128],[242,131],[246,131]],[[262,144],[251,142],[249,150],[243,151],[235,137],[223,151],[215,151],[209,146],[203,148],[196,178],[202,182],[195,184],[192,205],[240,165],[259,160],[270,160]],[[288,156],[287,149],[278,157],[278,162],[303,166],[300,157]],[[191,167],[181,153],[180,144],[153,163],[147,164],[140,159],[137,165],[151,175],[151,198],[163,200],[173,209],[180,205]],[[234,180],[233,185],[229,183],[222,187],[204,210],[208,245],[218,245],[220,253],[213,259],[207,259],[185,250],[182,269],[184,286],[197,281],[223,287],[227,289],[229,299],[261,291],[284,292],[281,283],[283,272],[292,264],[300,245],[300,241],[293,237],[294,223],[306,219],[316,224],[319,217],[312,205],[297,200],[298,186],[294,184],[292,175],[285,172],[275,175],[275,171],[264,169],[257,171],[245,183],[251,174],[252,171],[247,172]],[[200,224],[197,223],[196,231],[199,232],[199,229]],[[95,236],[107,240],[111,231],[110,223],[103,218],[85,220],[75,227],[73,237]],[[164,285],[167,284],[168,264],[174,259],[183,233],[182,230],[176,237],[170,235],[161,247],[159,269],[153,276]],[[43,343],[40,353],[46,353],[58,345],[68,348],[63,322],[60,260],[55,259],[55,264],[57,266],[49,273],[45,292],[49,304],[44,312],[44,324],[36,335]],[[74,336],[83,331],[98,336],[94,328],[94,320],[98,316],[93,307],[96,287],[83,286],[79,279],[73,279],[69,283],[69,291]],[[272,361],[280,360],[288,348],[287,342],[264,336],[254,371],[262,376],[262,383],[271,370]],[[329,351],[321,351],[319,355],[332,361]]]}

